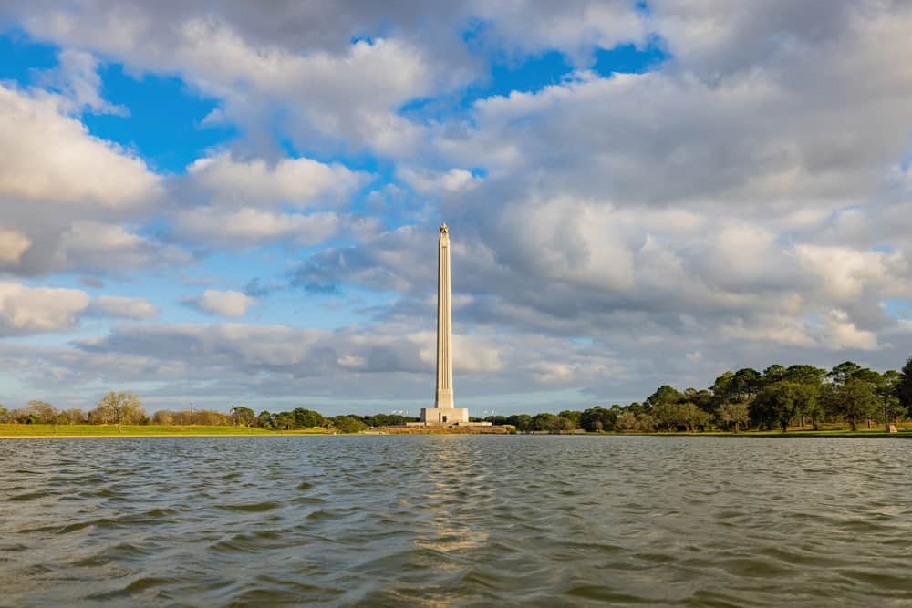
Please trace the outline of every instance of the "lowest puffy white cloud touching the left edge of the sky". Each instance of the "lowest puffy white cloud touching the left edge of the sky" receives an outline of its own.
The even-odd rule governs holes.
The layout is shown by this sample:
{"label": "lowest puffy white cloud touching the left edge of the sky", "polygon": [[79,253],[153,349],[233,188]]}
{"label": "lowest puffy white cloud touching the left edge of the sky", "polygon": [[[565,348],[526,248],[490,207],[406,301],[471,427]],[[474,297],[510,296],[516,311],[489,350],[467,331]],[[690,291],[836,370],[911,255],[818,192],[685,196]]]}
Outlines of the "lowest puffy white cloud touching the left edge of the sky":
{"label": "lowest puffy white cloud touching the left edge of the sky", "polygon": [[0,335],[54,332],[77,325],[88,308],[88,295],[78,289],[28,287],[0,283]]}

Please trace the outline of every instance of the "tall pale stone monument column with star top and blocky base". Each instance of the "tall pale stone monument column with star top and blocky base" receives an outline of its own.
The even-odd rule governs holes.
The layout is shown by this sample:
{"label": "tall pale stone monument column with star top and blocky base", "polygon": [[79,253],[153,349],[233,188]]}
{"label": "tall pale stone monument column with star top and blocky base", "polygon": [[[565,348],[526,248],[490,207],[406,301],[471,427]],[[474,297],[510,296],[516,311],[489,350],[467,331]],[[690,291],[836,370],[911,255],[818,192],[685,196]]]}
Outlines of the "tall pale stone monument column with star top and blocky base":
{"label": "tall pale stone monument column with star top and blocky base", "polygon": [[437,395],[434,407],[421,408],[424,424],[465,425],[469,410],[453,407],[452,309],[450,304],[450,229],[440,226],[437,248]]}

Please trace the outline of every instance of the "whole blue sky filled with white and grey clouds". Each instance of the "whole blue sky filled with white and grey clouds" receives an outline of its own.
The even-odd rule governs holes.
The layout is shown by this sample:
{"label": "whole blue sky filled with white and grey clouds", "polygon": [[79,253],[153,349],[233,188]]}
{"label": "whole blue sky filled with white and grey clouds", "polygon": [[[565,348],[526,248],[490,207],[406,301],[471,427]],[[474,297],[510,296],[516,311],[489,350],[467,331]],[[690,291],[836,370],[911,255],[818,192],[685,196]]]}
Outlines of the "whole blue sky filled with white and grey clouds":
{"label": "whole blue sky filled with white and grey clouds", "polygon": [[0,9],[0,403],[554,411],[912,354],[907,9]]}

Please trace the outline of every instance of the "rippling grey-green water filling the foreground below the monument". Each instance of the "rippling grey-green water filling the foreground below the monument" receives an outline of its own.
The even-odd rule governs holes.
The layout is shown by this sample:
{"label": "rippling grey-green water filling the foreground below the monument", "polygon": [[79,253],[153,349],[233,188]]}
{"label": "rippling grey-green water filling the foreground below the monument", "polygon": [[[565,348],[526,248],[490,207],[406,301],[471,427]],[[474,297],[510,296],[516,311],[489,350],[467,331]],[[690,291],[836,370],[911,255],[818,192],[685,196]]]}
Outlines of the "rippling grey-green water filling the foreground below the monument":
{"label": "rippling grey-green water filling the foreground below the monument", "polygon": [[912,603],[912,443],[0,442],[2,605]]}

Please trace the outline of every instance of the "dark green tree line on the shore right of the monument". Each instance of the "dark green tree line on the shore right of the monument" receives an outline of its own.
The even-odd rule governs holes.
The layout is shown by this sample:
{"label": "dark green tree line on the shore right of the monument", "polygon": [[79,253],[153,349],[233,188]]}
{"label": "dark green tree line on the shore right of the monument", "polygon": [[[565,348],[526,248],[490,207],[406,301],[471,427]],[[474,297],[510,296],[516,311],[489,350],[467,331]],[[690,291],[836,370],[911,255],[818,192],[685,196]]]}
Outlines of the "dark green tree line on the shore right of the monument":
{"label": "dark green tree line on the shore right of the monument", "polygon": [[663,385],[642,402],[591,407],[559,414],[492,416],[521,432],[654,432],[749,428],[787,432],[791,427],[841,423],[852,430],[865,424],[886,428],[912,414],[912,357],[902,371],[883,373],[853,361],[821,367],[772,365],[728,371],[707,388],[683,391]]}

